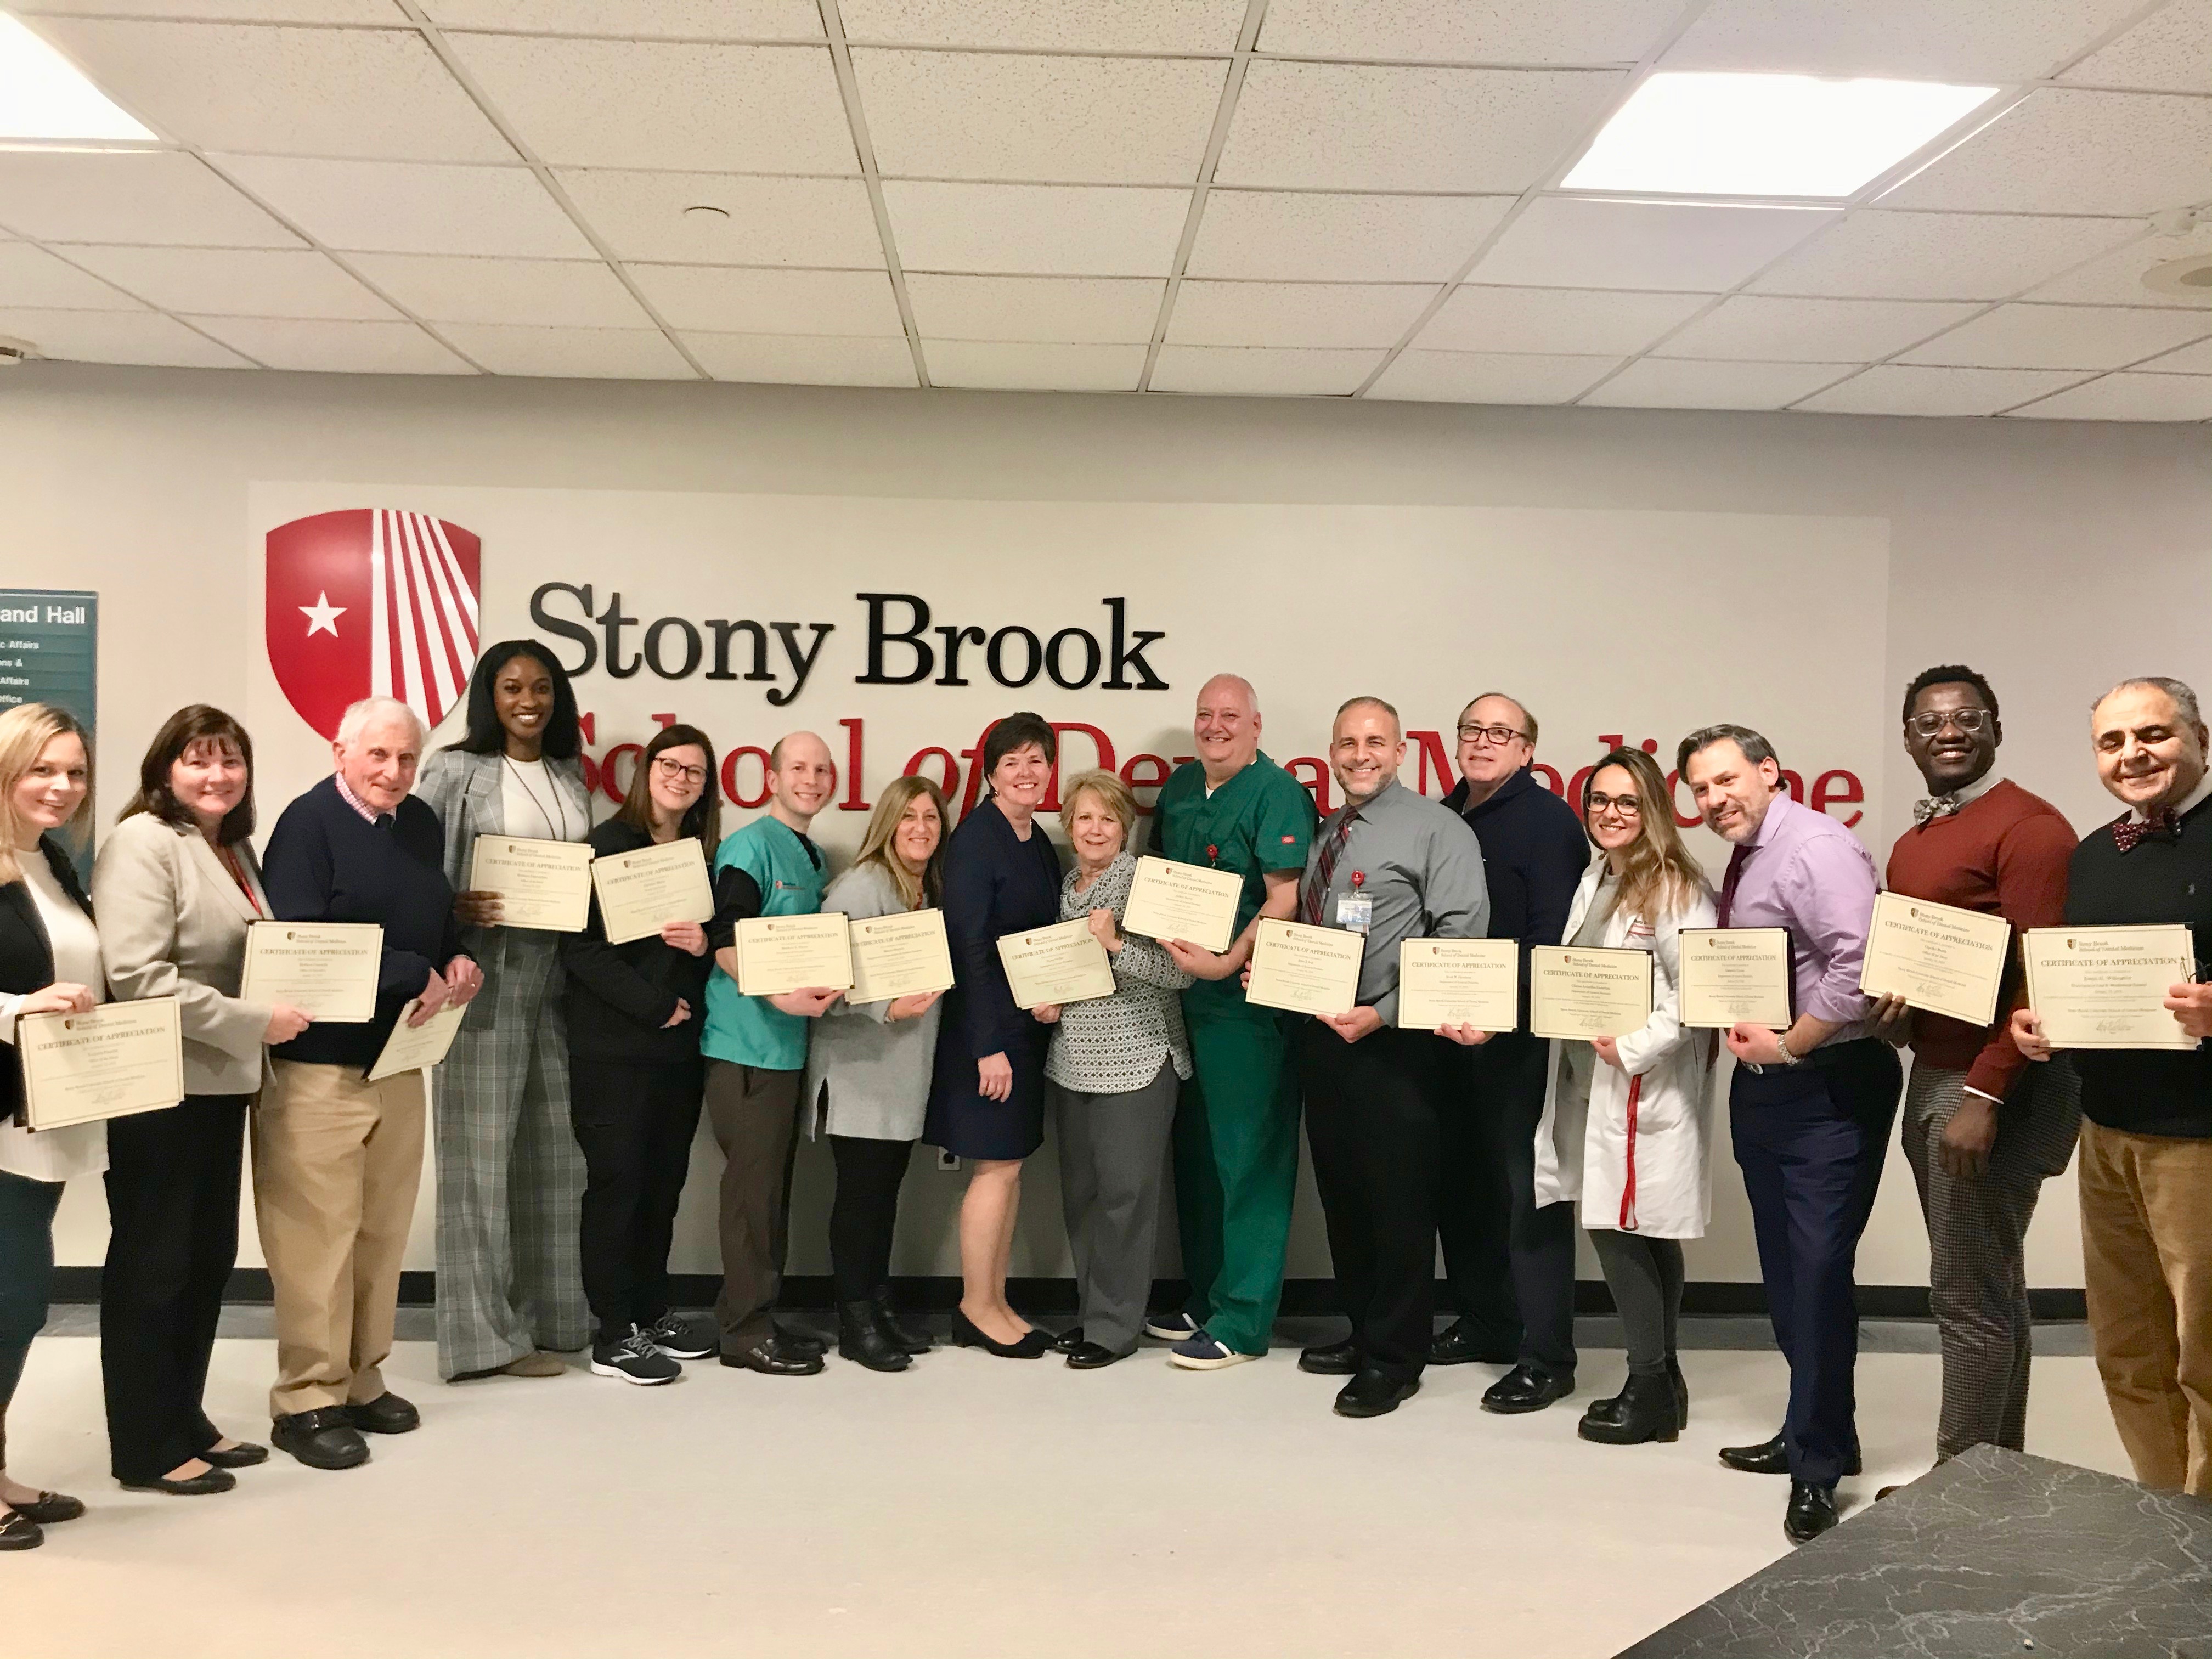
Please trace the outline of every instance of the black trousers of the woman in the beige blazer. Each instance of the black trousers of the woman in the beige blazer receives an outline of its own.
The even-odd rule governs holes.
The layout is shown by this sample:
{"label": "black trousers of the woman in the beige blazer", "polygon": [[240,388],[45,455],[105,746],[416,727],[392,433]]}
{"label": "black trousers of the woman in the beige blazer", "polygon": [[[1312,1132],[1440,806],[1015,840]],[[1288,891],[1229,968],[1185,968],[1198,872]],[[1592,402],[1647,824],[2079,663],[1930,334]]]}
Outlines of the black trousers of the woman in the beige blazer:
{"label": "black trousers of the woman in the beige blazer", "polygon": [[100,1274],[100,1383],[108,1467],[159,1480],[221,1440],[201,1394],[239,1259],[246,1095],[186,1095],[108,1121],[108,1261]]}

